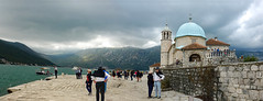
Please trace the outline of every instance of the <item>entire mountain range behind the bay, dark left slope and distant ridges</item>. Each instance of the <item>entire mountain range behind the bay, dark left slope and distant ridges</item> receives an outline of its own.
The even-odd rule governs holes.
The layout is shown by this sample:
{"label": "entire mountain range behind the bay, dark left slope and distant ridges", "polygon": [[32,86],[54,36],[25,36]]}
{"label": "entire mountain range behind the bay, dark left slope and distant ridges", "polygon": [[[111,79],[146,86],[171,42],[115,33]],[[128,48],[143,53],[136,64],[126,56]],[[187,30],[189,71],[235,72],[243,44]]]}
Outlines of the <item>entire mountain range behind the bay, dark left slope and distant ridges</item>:
{"label": "entire mountain range behind the bay, dark left slope and distant ridges", "polygon": [[[160,63],[161,47],[151,48],[120,47],[120,48],[89,48],[73,54],[44,55],[34,52],[26,45],[18,42],[0,40],[0,63],[6,61],[62,67],[79,66],[96,68],[105,66],[110,69],[147,69],[150,65]],[[263,52],[237,50],[237,56],[255,56],[263,60]],[[7,64],[7,63],[6,63]]]}

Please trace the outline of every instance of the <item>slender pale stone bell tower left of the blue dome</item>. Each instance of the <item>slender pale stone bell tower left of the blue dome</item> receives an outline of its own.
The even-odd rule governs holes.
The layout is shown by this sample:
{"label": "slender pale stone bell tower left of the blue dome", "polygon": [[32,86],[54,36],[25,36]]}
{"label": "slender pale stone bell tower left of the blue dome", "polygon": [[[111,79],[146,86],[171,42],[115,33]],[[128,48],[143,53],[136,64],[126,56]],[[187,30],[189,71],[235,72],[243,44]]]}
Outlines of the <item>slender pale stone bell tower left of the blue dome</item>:
{"label": "slender pale stone bell tower left of the blue dome", "polygon": [[168,49],[172,45],[172,31],[168,29],[168,24],[165,24],[162,31],[161,40],[161,68],[165,68],[168,65]]}

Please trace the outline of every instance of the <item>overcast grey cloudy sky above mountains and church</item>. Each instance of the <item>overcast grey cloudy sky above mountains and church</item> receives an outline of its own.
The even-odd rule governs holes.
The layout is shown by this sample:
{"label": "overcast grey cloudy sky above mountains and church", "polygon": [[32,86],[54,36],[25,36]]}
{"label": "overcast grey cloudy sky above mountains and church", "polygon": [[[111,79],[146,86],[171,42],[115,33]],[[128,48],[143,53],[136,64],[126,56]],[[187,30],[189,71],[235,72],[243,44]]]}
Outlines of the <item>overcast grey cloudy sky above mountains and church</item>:
{"label": "overcast grey cloudy sky above mountains and church", "polygon": [[263,0],[0,0],[0,38],[45,54],[147,48],[166,20],[174,37],[189,13],[207,38],[263,48]]}

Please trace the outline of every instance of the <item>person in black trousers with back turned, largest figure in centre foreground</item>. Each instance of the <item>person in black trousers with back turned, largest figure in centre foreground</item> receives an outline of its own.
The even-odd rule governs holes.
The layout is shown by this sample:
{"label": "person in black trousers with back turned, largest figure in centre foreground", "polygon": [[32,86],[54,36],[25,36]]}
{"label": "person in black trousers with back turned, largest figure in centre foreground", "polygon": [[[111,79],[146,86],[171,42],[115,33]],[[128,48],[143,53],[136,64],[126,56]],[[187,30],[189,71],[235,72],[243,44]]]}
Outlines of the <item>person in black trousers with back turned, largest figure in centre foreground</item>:
{"label": "person in black trousers with back turned, largest figure in centre foreground", "polygon": [[[107,79],[105,77],[108,76]],[[101,101],[105,101],[105,82],[108,81],[110,75],[105,72],[102,67],[94,72],[94,82],[96,83],[96,99],[99,101],[99,93],[101,94]]]}

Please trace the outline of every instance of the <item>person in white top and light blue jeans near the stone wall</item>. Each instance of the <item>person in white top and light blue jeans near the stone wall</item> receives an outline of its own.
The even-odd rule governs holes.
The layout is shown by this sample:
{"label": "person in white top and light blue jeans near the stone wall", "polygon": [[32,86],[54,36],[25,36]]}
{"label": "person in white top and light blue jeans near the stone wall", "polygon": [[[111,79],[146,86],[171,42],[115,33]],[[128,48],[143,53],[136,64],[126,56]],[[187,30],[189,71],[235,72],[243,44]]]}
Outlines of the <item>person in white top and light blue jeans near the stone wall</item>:
{"label": "person in white top and light blue jeans near the stone wall", "polygon": [[164,79],[164,75],[160,71],[160,68],[155,68],[155,72],[153,74],[154,87],[155,87],[155,97],[161,98],[161,80]]}

